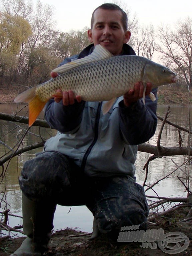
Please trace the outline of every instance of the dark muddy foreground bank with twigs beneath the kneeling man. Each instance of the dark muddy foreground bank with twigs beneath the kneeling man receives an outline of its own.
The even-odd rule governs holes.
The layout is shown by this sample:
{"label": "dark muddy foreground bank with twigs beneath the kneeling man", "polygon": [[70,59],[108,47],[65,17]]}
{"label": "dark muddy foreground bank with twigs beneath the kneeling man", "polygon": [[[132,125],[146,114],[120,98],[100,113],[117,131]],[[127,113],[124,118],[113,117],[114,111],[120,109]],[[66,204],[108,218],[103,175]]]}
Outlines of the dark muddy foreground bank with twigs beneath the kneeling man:
{"label": "dark muddy foreground bank with twigs beneath the kneeling man", "polygon": [[[164,234],[174,232],[167,236],[168,238],[170,236],[177,236],[178,239],[181,233],[189,238],[189,240],[184,241],[181,235],[181,250],[180,252],[178,251],[178,256],[192,255],[192,220],[186,221],[189,209],[190,207],[181,207],[161,217],[157,214],[153,222],[149,222],[148,224],[149,230],[162,228]],[[49,242],[48,252],[44,256],[164,256],[168,255],[167,253],[175,254],[176,251],[174,250],[179,250],[176,242],[168,244],[170,247],[175,247],[172,251],[169,251],[170,248],[165,243],[164,248],[168,250],[165,253],[166,251],[163,252],[162,247],[160,249],[158,243],[152,243],[153,241],[151,241],[151,245],[155,249],[148,248],[147,245],[150,246],[150,243],[146,243],[144,248],[144,243],[142,244],[142,242],[112,242],[105,235],[90,241],[91,234],[77,231],[76,229],[67,228],[53,233]],[[21,245],[23,240],[23,237],[15,239],[0,238],[0,255],[8,256],[13,253]]]}

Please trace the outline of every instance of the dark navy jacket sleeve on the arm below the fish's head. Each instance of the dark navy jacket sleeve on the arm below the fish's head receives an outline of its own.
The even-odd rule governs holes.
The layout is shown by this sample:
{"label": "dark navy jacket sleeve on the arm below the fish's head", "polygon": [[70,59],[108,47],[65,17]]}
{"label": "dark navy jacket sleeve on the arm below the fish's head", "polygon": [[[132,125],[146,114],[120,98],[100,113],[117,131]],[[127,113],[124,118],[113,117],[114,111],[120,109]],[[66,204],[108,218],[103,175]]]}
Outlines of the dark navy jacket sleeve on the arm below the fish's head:
{"label": "dark navy jacket sleeve on the arm below the fish's head", "polygon": [[125,141],[131,145],[138,145],[148,141],[157,127],[157,88],[153,89],[156,100],[152,102],[145,97],[145,105],[140,99],[133,106],[125,107],[123,101],[119,103],[120,129]]}

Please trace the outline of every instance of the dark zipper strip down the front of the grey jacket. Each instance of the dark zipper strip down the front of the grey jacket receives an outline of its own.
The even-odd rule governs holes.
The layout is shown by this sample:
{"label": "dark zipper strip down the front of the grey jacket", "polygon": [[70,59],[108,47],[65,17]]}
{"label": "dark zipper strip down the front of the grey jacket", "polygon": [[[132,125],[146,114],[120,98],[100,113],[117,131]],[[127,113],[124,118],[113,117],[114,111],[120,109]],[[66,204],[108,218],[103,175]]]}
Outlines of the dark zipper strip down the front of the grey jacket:
{"label": "dark zipper strip down the front of the grey jacket", "polygon": [[85,170],[85,165],[87,162],[87,157],[89,156],[93,146],[95,145],[95,143],[97,142],[98,139],[98,128],[99,128],[99,119],[100,119],[100,115],[101,115],[101,106],[102,106],[102,102],[99,102],[98,107],[97,107],[97,113],[96,113],[96,118],[95,118],[95,126],[94,126],[94,139],[91,143],[91,145],[88,147],[88,149],[85,152],[85,155],[83,157],[82,163],[81,163],[81,170],[84,171]]}

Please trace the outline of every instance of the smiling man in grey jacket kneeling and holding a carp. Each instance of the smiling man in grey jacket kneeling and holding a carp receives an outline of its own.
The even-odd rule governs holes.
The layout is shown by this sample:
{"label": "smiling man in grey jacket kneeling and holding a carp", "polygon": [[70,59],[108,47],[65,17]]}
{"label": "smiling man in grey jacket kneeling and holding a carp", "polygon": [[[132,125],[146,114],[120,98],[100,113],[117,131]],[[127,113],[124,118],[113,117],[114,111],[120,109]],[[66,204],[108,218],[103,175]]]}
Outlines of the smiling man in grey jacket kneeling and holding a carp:
{"label": "smiling man in grey jacket kneeling and holding a carp", "polygon": [[[130,36],[125,12],[103,4],[93,12],[88,30],[93,44],[61,64],[89,55],[97,44],[113,55],[134,55],[126,44]],[[148,83],[146,95],[151,87]],[[45,118],[57,135],[23,166],[20,187],[28,237],[12,255],[41,255],[47,249],[57,204],[86,205],[99,232],[116,241],[122,226],[147,228],[148,206],[143,187],[135,182],[134,162],[137,144],[155,133],[157,102],[146,97],[143,104],[140,81],[106,115],[102,102],[84,102],[80,95],[74,99],[73,91],[62,95],[62,100],[55,97],[45,107]]]}

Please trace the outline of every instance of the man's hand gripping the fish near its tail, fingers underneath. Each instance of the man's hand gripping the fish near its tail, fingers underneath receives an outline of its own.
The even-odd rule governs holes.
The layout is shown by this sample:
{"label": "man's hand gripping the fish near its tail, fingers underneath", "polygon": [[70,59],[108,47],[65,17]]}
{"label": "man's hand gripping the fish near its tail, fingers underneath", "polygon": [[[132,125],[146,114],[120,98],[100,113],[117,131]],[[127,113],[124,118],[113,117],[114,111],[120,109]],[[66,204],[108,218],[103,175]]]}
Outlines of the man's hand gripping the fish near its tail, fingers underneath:
{"label": "man's hand gripping the fish near its tail, fingers underneath", "polygon": [[[51,76],[55,78],[56,76],[58,76],[58,74],[56,72],[52,72]],[[61,89],[58,89],[56,94],[58,94],[58,96],[54,97],[55,102],[59,103],[62,100],[64,106],[74,104],[75,99],[77,100],[77,102],[81,102],[82,100],[81,96],[79,95],[75,97],[74,92],[72,90],[62,91]]]}

